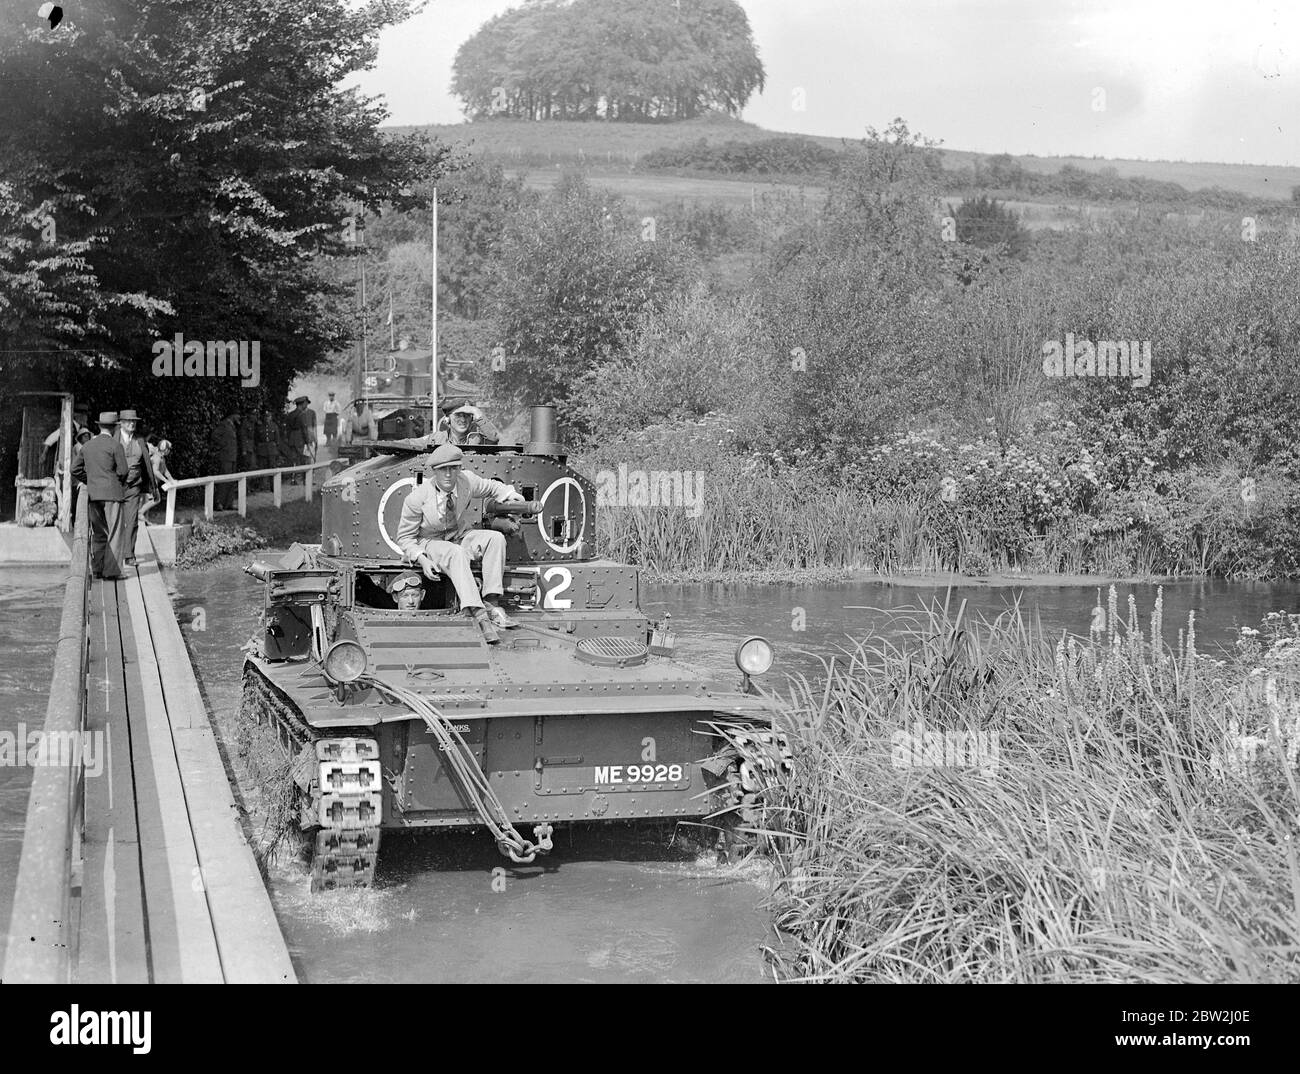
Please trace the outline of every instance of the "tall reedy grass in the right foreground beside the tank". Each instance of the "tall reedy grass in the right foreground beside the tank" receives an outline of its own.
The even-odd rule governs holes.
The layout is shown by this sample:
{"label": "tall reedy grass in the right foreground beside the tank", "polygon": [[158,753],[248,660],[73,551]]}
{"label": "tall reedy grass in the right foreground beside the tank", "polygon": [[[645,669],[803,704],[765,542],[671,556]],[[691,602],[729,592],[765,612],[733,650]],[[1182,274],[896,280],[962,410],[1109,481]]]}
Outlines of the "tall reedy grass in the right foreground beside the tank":
{"label": "tall reedy grass in the right foreground beside the tank", "polygon": [[[1112,589],[1088,641],[1053,644],[1018,610],[935,607],[792,690],[779,973],[1300,979],[1295,675],[1260,690],[1191,622],[1166,646],[1160,601],[1147,635],[1117,612]],[[897,733],[922,728],[989,732],[996,762],[900,765]]]}

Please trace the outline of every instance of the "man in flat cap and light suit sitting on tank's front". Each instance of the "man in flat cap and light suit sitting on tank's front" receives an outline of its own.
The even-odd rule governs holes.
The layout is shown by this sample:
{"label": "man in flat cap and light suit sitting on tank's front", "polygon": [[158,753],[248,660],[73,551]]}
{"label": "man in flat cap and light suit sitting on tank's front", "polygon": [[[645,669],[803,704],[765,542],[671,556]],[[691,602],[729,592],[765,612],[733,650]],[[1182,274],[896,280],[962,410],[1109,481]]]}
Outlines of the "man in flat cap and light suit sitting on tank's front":
{"label": "man in flat cap and light suit sitting on tank's front", "polygon": [[[445,443],[425,463],[429,480],[416,485],[402,504],[398,547],[429,579],[442,573],[456,588],[460,607],[471,615],[489,645],[499,641],[498,627],[515,622],[500,606],[506,567],[506,536],[495,529],[469,529],[469,501],[490,497],[494,503],[521,503],[514,485],[464,469],[459,447]],[[482,560],[484,589],[478,593],[471,562]],[[488,601],[488,606],[484,606]]]}

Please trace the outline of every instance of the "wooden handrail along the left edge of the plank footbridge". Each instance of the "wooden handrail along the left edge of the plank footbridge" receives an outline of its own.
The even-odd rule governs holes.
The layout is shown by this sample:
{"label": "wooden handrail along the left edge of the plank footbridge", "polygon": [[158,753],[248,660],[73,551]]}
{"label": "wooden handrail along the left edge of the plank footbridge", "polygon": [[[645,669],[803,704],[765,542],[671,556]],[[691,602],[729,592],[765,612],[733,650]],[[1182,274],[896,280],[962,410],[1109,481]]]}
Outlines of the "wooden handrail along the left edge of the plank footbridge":
{"label": "wooden handrail along the left edge of the plank footbridge", "polygon": [[[9,918],[4,979],[66,984],[77,937],[72,914],[74,857],[81,856],[84,823],[86,770],[86,624],[90,598],[90,503],[86,486],[77,493],[73,559],[64,590],[64,611],[55,649],[55,674],[46,706],[44,740],[72,742],[72,765],[38,765],[31,774],[27,819],[18,859],[18,883]],[[26,744],[20,746],[26,749]]]}

